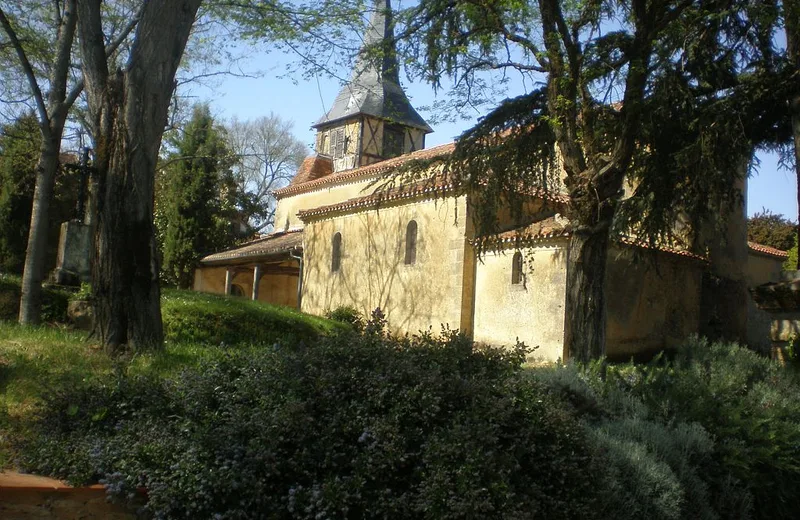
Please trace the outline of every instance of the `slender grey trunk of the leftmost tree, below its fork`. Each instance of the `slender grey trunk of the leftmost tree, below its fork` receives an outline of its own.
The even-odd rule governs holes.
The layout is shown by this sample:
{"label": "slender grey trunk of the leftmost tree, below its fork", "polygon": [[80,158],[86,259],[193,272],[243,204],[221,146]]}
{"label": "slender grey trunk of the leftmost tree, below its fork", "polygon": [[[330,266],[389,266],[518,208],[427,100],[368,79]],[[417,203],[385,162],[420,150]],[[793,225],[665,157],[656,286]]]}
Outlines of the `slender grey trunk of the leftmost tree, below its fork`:
{"label": "slender grey trunk of the leftmost tree, below its fork", "polygon": [[19,322],[23,325],[36,325],[41,319],[47,229],[50,225],[50,201],[53,198],[58,170],[58,141],[61,140],[61,132],[54,132],[54,135],[58,136],[57,140],[42,140],[39,161],[36,164],[36,188],[33,192],[31,226],[28,231],[28,247],[22,272],[22,297],[19,303]]}

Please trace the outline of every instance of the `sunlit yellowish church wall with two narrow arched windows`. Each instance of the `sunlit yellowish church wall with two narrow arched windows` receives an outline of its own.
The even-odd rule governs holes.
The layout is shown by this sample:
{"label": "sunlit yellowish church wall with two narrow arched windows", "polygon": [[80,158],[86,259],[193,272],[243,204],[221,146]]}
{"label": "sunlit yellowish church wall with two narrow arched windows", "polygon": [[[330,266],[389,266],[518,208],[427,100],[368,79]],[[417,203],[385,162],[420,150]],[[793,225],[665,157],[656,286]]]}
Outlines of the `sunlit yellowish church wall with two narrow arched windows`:
{"label": "sunlit yellowish church wall with two narrow arched windows", "polygon": [[[417,222],[417,255],[404,263],[406,227]],[[342,305],[369,316],[380,307],[396,332],[462,318],[466,197],[416,201],[306,223],[302,310]],[[331,269],[332,240],[342,236],[341,266]]]}

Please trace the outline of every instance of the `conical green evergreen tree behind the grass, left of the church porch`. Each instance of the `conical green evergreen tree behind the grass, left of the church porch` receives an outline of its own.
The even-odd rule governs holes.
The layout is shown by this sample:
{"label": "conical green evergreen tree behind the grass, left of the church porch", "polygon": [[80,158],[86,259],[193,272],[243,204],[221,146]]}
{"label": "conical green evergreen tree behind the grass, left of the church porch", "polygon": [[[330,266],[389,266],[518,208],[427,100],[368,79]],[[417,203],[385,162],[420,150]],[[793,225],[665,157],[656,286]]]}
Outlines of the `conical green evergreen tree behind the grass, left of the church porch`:
{"label": "conical green evergreen tree behind the grass, left of the church porch", "polygon": [[236,190],[224,130],[208,105],[197,105],[159,173],[155,222],[163,252],[162,280],[189,288],[204,255],[236,240]]}

